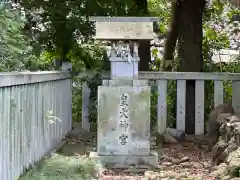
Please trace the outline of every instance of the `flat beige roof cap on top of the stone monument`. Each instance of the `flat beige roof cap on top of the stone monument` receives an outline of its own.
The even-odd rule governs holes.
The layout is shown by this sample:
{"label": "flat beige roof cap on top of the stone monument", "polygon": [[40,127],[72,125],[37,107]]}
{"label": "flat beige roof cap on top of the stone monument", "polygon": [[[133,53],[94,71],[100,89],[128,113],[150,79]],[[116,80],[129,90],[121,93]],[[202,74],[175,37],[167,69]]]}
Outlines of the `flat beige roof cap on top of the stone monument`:
{"label": "flat beige roof cap on top of the stone monument", "polygon": [[154,39],[153,22],[158,17],[101,17],[92,16],[96,22],[96,36],[99,40],[140,40]]}

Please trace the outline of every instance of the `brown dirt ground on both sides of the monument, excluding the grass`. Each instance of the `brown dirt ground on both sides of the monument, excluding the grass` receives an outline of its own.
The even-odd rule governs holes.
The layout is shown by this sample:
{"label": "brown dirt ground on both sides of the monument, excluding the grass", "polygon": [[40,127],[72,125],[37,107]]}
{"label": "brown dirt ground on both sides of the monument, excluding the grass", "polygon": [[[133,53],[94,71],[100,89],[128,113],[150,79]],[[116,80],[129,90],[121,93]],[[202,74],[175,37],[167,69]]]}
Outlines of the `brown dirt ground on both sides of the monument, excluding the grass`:
{"label": "brown dirt ground on both sides of the monument, excluding the grass", "polygon": [[[96,148],[96,134],[89,133],[71,138],[59,153],[65,156],[83,156]],[[205,146],[199,147],[196,142],[184,141],[181,144],[154,146],[159,153],[159,166],[156,169],[107,169],[105,168],[100,180],[168,180],[168,179],[215,179],[210,176],[213,167],[211,154],[206,154]],[[142,171],[142,172],[138,172]]]}

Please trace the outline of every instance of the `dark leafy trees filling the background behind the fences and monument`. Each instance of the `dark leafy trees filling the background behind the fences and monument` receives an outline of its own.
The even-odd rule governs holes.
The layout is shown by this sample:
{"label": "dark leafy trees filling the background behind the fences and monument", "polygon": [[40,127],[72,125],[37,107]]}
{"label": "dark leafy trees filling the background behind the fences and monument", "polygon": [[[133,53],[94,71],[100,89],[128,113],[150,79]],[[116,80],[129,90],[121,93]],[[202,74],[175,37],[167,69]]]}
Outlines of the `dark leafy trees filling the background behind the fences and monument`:
{"label": "dark leafy trees filling the background behind the fences and monument", "polygon": [[[160,49],[153,48],[150,52],[150,42],[141,41],[140,70],[236,72],[238,63],[213,64],[211,57],[214,50],[239,48],[240,40],[236,35],[239,33],[239,23],[230,18],[237,13],[239,10],[227,3],[208,3],[205,0],[177,3],[165,0],[22,0],[19,6],[5,11],[1,9],[0,68],[2,71],[46,70],[52,69],[53,60],[58,59],[71,61],[76,72],[107,69],[106,48],[92,39],[94,26],[87,21],[88,16],[159,16],[158,26],[155,26],[159,38],[154,40],[154,44],[163,46],[165,42],[165,50],[160,52],[163,58],[157,56]],[[93,90],[92,97],[96,97],[94,92],[100,83],[99,78],[94,79],[84,79]],[[171,81],[169,86],[175,86],[175,82]],[[231,93],[231,88],[225,88],[227,93]],[[169,89],[168,119],[169,124],[174,125],[176,89]],[[192,126],[193,130],[194,83],[188,82],[187,89],[187,126]],[[213,104],[209,100],[213,95],[211,82],[208,82],[206,90],[209,92],[206,93],[209,96],[206,98],[208,111]],[[79,119],[79,91],[74,92],[74,99],[74,118]],[[156,95],[152,100],[154,109]],[[94,103],[92,107],[95,108]],[[94,117],[95,111],[91,112]],[[153,122],[156,119],[154,113],[152,119]]]}

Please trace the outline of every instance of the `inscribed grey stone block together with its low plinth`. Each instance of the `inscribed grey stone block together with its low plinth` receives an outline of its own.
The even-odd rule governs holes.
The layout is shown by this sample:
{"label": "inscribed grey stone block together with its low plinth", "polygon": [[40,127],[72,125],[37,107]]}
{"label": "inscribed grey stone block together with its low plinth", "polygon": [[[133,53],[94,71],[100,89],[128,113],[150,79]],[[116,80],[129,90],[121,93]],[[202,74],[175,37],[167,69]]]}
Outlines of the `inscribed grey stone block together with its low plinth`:
{"label": "inscribed grey stone block together with its low plinth", "polygon": [[[157,154],[150,152],[150,94],[149,86],[98,87],[98,145],[92,158],[118,168],[157,164]],[[127,97],[125,117],[121,97]]]}

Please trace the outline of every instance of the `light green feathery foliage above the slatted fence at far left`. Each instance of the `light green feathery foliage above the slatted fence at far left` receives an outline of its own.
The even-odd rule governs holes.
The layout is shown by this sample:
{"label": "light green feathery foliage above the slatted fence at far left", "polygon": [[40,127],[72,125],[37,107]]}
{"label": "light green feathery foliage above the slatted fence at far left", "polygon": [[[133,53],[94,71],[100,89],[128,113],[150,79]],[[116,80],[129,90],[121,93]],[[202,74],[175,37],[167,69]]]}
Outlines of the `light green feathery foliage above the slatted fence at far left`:
{"label": "light green feathery foliage above the slatted fence at far left", "polygon": [[0,71],[49,69],[33,54],[30,39],[22,33],[25,19],[19,9],[0,8]]}

